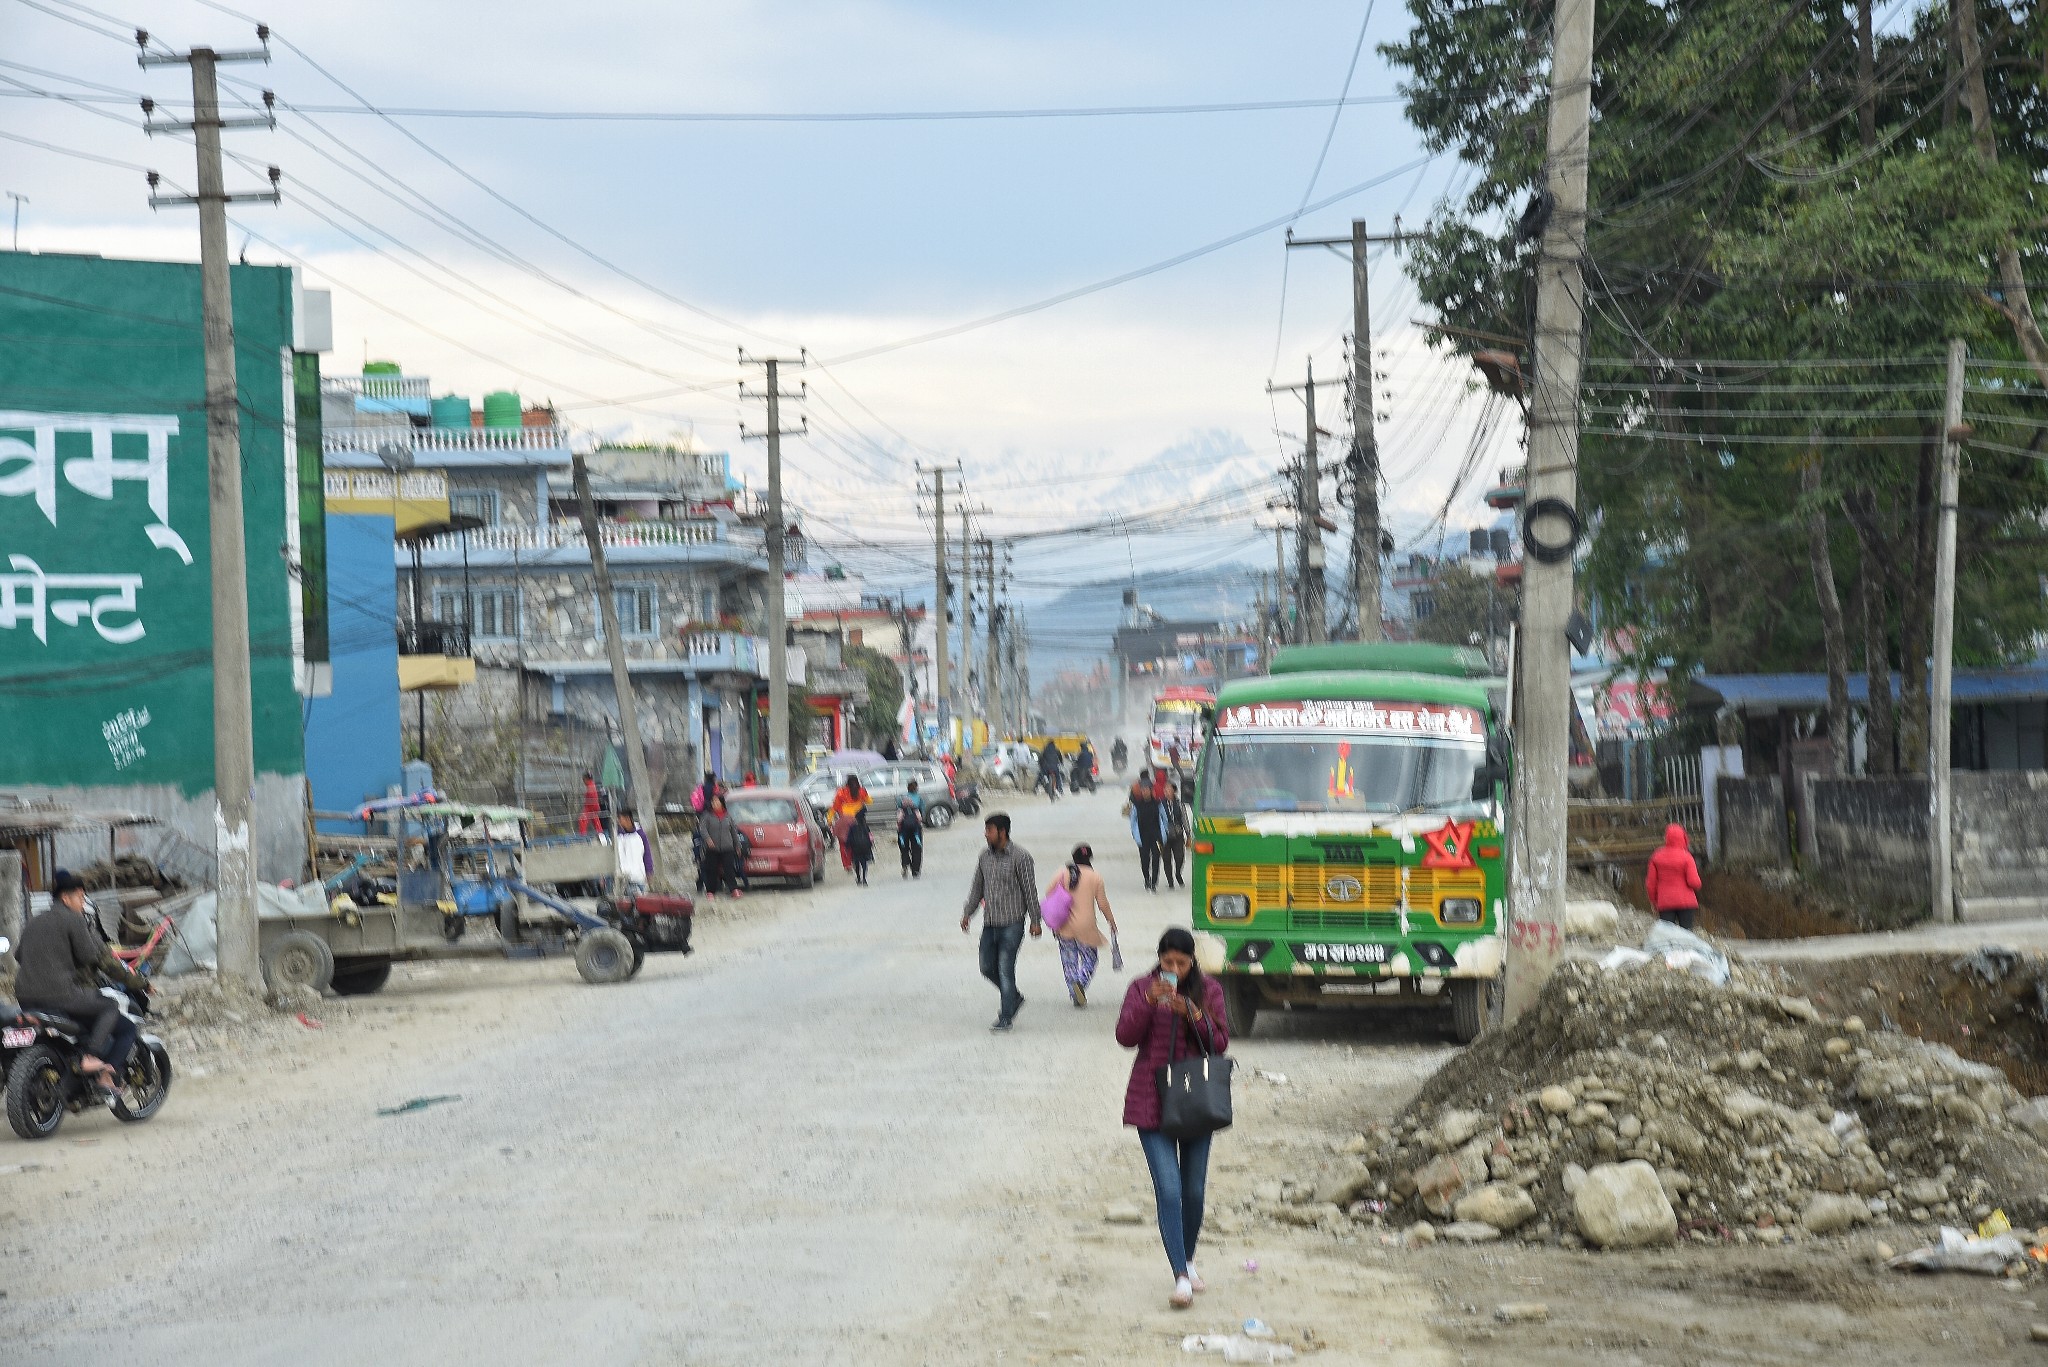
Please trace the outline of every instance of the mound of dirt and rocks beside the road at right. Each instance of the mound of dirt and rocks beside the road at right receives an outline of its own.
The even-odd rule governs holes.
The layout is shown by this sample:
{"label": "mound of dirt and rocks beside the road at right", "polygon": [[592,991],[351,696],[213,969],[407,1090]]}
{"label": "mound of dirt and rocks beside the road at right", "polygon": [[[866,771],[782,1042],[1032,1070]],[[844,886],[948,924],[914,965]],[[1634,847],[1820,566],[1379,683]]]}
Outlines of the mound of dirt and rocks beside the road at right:
{"label": "mound of dirt and rocks beside the road at right", "polygon": [[1585,1172],[1628,1160],[1655,1168],[1681,1238],[1956,1224],[1991,1207],[2034,1224],[2048,1215],[2048,1150],[2007,1117],[2021,1101],[1995,1068],[1827,1017],[1759,974],[1716,988],[1659,965],[1567,963],[1530,1012],[1421,1088],[1372,1168],[1389,1217],[1485,1219],[1526,1211],[1509,1189],[1528,1193],[1534,1213],[1507,1228],[1534,1238],[1577,1238]]}

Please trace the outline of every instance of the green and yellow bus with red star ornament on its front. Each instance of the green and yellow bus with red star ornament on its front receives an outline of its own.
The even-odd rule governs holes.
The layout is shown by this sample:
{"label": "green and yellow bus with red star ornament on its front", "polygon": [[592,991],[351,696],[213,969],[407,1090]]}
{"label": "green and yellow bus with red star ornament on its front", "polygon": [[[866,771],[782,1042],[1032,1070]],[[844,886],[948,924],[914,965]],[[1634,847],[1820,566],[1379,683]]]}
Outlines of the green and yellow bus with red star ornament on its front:
{"label": "green and yellow bus with red star ornament on its front", "polygon": [[1194,939],[1262,1006],[1444,1002],[1460,1041],[1505,961],[1503,682],[1452,646],[1298,646],[1217,695],[1194,805]]}

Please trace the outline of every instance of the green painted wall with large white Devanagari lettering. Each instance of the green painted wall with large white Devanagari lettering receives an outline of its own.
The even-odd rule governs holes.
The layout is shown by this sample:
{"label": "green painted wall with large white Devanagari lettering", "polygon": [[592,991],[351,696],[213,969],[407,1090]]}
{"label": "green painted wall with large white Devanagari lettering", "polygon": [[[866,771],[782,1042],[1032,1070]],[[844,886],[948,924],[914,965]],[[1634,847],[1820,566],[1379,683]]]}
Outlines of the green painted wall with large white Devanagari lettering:
{"label": "green painted wall with large white Devanagari lettering", "polygon": [[[256,771],[295,691],[293,277],[236,266]],[[213,787],[199,266],[0,252],[0,787]]]}

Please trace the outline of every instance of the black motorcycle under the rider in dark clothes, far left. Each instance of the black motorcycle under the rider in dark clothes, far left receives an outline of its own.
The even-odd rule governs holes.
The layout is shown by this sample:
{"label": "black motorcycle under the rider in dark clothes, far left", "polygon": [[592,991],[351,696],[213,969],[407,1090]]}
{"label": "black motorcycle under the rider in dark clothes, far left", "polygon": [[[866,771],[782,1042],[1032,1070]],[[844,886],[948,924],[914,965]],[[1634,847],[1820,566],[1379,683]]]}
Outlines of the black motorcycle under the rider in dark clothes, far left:
{"label": "black motorcycle under the rider in dark clothes, far left", "polygon": [[[0,939],[0,953],[6,953]],[[100,988],[137,1029],[121,1072],[121,1088],[111,1096],[78,1072],[86,1027],[53,1010],[31,1010],[0,1025],[0,1074],[6,1078],[6,1121],[23,1140],[57,1133],[63,1115],[104,1105],[115,1119],[139,1123],[156,1115],[170,1094],[170,1051],[156,1035],[141,1031],[147,1004],[127,988]]]}

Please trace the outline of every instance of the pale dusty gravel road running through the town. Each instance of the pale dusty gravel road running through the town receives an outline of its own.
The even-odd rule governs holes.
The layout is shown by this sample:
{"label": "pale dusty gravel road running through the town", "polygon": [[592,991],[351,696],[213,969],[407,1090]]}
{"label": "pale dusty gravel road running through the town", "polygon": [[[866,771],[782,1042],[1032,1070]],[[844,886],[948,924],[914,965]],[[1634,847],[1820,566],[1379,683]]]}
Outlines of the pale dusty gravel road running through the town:
{"label": "pale dusty gravel road running through the town", "polygon": [[[1102,846],[1130,967],[1149,963],[1186,902],[1137,889],[1116,797],[1012,805],[1047,873],[1075,838]],[[1180,1332],[1296,1303],[1337,1342],[1370,1318],[1374,1349],[1419,1349],[1403,1279],[1315,1275],[1321,1252],[1251,1283],[1219,1248],[1219,1312],[1167,1312],[1149,1224],[1102,1221],[1106,1201],[1149,1209],[1118,1127],[1122,980],[1104,965],[1075,1010],[1028,943],[1020,1025],[987,1031],[995,994],[958,930],[979,834],[936,832],[918,883],[881,863],[866,889],[834,869],[758,894],[623,988],[563,959],[406,969],[330,1000],[317,1033],[285,1019],[186,1060],[150,1125],[88,1115],[0,1146],[0,1168],[35,1164],[0,1174],[10,1361],[109,1361],[109,1326],[121,1357],[162,1363],[950,1363],[1038,1342],[1165,1361]],[[1274,1033],[1247,1066],[1323,1051]],[[1376,1049],[1360,1074],[1395,1094],[1440,1051]],[[377,1115],[434,1094],[461,1101]],[[1251,1178],[1241,1131],[1219,1187]]]}

